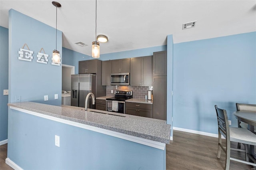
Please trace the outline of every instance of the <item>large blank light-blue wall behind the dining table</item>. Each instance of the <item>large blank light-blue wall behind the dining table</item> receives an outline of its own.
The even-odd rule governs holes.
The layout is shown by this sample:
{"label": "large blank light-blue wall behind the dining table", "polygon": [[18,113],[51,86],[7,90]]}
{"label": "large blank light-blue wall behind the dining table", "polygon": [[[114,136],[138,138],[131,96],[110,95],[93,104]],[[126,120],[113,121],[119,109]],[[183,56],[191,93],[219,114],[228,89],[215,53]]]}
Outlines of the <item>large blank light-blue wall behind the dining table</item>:
{"label": "large blank light-blue wall behind the dining table", "polygon": [[256,32],[174,44],[173,126],[217,134],[214,105],[232,126],[235,103],[256,103]]}

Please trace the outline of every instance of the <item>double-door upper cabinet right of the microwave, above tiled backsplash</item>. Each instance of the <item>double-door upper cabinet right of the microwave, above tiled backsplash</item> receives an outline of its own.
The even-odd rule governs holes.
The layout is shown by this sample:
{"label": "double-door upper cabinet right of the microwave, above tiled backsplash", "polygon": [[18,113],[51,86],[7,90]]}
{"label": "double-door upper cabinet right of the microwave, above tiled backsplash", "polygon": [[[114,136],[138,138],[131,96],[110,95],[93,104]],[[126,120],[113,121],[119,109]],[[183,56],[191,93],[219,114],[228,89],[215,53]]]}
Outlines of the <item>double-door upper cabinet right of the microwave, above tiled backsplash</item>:
{"label": "double-door upper cabinet right of the microwave, above tiled backsplash", "polygon": [[131,79],[132,86],[152,86],[153,83],[153,57],[131,58]]}

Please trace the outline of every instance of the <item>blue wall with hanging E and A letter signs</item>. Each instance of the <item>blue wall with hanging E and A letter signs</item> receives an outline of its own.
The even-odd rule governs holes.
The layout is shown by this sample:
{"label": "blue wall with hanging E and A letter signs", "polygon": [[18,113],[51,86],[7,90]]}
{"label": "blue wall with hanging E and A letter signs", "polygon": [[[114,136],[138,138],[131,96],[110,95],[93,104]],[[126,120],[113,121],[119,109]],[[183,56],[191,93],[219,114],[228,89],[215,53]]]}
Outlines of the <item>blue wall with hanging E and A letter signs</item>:
{"label": "blue wall with hanging E and A letter signs", "polygon": [[[21,96],[21,101],[61,105],[62,67],[51,65],[55,34],[55,28],[13,9],[9,11],[8,102],[15,102],[15,97]],[[57,38],[57,50],[62,56],[62,32],[58,31]],[[18,59],[18,51],[24,43],[34,51],[32,62]],[[41,48],[49,55],[47,64],[36,62]],[[54,99],[54,94],[58,94],[58,99]],[[44,101],[44,95],[48,95],[48,101]]]}

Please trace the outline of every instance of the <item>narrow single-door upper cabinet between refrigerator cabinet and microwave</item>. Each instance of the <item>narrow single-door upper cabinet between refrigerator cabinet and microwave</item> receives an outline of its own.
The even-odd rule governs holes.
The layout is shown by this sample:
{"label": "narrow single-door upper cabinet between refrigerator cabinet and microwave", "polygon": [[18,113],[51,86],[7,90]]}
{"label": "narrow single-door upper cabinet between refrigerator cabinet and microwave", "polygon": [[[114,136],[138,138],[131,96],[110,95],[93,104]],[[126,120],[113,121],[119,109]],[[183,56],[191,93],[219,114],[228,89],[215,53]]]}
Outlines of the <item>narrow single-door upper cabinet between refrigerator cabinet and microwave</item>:
{"label": "narrow single-door upper cabinet between refrigerator cabinet and microwave", "polygon": [[102,61],[102,85],[110,85],[112,60]]}

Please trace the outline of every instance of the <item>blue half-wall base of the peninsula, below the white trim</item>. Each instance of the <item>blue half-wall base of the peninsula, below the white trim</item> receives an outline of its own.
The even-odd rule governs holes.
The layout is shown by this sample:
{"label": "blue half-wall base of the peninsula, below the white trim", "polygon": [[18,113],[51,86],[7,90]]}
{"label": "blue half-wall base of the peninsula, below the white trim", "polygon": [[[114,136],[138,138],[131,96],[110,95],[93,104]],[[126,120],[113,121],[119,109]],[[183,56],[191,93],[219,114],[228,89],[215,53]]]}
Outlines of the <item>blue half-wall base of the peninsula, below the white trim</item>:
{"label": "blue half-wall base of the peninsula, below the white trim", "polygon": [[16,110],[9,118],[8,158],[25,170],[166,169],[166,150]]}

